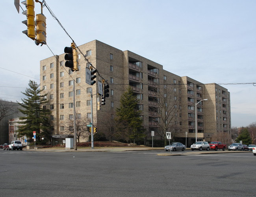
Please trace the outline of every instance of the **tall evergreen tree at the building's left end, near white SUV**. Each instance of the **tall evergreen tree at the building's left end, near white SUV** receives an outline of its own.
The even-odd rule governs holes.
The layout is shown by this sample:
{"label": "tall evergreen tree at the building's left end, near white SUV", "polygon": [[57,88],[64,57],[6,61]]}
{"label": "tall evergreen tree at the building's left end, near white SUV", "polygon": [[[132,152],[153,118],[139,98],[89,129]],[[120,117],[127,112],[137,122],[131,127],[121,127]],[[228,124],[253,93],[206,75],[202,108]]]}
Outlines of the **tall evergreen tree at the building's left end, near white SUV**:
{"label": "tall evergreen tree at the building's left end, near white SUV", "polygon": [[47,104],[45,95],[40,95],[41,91],[35,81],[29,81],[29,88],[22,92],[27,99],[21,99],[23,103],[19,103],[24,109],[19,109],[20,112],[26,114],[26,117],[20,117],[21,120],[26,120],[24,125],[19,127],[19,136],[28,137],[32,141],[33,131],[36,131],[36,139],[39,141],[42,137],[45,140],[50,140],[50,110],[43,108]]}

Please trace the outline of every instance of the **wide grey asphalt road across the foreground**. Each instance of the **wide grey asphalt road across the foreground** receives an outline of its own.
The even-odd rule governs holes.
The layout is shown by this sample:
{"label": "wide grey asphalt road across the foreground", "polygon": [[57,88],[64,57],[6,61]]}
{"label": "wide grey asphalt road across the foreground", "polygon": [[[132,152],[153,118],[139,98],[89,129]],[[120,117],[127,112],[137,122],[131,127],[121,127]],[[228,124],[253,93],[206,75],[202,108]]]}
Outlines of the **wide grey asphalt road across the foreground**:
{"label": "wide grey asphalt road across the foreground", "polygon": [[256,156],[0,150],[1,196],[255,196]]}

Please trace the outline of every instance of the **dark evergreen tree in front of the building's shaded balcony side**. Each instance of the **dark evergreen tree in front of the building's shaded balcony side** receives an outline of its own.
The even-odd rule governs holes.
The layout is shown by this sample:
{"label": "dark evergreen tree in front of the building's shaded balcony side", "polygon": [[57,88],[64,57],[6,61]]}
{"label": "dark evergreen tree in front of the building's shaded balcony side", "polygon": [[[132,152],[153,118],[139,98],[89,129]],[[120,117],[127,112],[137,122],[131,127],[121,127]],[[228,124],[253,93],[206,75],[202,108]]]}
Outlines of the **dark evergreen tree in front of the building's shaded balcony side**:
{"label": "dark evergreen tree in front of the building's shaded balcony side", "polygon": [[138,99],[135,97],[132,88],[129,86],[127,91],[121,96],[120,108],[116,109],[116,121],[120,124],[125,135],[130,139],[140,139],[145,137],[142,127],[141,111],[137,109]]}

